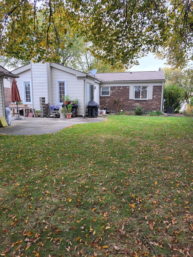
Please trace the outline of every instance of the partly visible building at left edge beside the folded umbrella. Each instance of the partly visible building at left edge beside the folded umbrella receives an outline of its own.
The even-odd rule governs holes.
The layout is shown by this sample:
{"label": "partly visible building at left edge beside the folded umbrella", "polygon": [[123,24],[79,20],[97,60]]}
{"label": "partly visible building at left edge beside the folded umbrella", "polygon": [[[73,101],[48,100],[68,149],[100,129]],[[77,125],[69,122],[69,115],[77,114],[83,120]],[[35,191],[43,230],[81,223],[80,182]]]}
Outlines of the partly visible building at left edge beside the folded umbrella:
{"label": "partly visible building at left edge beside the folded umbrella", "polygon": [[[18,78],[17,75],[12,74],[10,71],[7,71],[5,68],[0,66],[0,117],[5,117],[5,97],[4,97],[4,79],[10,79],[10,78]],[[11,91],[10,88],[8,89],[8,92]],[[6,96],[6,90],[5,90],[5,96]]]}

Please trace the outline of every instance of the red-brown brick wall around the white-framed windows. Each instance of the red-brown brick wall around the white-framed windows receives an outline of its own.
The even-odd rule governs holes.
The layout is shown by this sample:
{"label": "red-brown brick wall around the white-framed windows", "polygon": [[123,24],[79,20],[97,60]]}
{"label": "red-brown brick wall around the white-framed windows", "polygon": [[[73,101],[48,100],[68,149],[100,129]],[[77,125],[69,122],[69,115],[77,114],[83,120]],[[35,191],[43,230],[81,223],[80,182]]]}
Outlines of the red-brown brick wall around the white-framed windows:
{"label": "red-brown brick wall around the white-framed windows", "polygon": [[120,109],[123,109],[123,111],[133,110],[138,105],[143,107],[144,110],[159,111],[161,95],[162,86],[153,86],[152,100],[129,100],[129,86],[113,86],[110,87],[110,96],[100,96],[100,109],[106,106],[109,110],[116,110],[113,102],[116,98],[119,98],[122,103]]}

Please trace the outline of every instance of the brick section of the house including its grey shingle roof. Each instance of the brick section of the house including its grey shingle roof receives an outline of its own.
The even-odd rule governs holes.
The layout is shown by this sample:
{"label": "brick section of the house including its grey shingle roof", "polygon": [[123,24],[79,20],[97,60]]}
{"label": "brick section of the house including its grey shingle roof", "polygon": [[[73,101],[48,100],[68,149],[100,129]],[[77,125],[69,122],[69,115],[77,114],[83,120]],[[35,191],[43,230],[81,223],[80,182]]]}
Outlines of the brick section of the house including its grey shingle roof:
{"label": "brick section of the house including its grey shingle roof", "polygon": [[115,99],[123,111],[140,105],[147,111],[162,111],[164,71],[97,73],[100,83],[100,108],[115,110]]}

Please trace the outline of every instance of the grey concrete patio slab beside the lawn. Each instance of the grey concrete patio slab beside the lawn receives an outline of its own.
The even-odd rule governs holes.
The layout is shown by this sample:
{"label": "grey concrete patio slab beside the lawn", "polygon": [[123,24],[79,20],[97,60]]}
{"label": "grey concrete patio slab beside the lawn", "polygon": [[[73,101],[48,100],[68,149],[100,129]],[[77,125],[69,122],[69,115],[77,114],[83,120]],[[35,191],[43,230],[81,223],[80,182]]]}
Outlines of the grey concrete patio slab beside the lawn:
{"label": "grey concrete patio slab beside the lawn", "polygon": [[40,135],[54,133],[74,124],[92,123],[106,120],[105,115],[97,118],[75,117],[67,118],[30,118],[21,116],[22,120],[14,120],[12,117],[11,125],[0,127],[0,134],[3,135]]}

